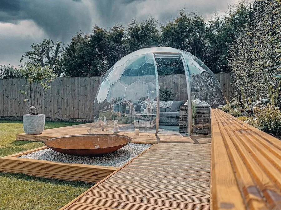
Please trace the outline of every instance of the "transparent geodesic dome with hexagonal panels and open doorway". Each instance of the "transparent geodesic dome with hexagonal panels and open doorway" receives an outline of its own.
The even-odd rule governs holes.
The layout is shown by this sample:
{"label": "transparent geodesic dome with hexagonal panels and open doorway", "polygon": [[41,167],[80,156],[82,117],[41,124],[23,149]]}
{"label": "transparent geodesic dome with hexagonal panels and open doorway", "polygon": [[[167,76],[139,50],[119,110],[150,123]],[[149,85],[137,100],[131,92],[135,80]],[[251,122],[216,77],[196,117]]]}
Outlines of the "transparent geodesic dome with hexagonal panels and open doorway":
{"label": "transparent geodesic dome with hexagonal panels and open doorway", "polygon": [[[170,56],[169,60],[165,56]],[[169,75],[176,78],[167,79]],[[136,117],[144,117],[141,114],[145,105],[143,122],[148,128],[153,127],[156,101],[160,100],[156,87],[169,82],[175,87],[180,84],[174,88],[178,100],[186,102],[190,94],[192,100],[204,100],[212,108],[224,103],[218,80],[197,57],[170,47],[146,48],[121,58],[103,77],[94,104],[96,121],[104,124],[106,119],[107,125],[113,125],[115,120],[133,124]]]}

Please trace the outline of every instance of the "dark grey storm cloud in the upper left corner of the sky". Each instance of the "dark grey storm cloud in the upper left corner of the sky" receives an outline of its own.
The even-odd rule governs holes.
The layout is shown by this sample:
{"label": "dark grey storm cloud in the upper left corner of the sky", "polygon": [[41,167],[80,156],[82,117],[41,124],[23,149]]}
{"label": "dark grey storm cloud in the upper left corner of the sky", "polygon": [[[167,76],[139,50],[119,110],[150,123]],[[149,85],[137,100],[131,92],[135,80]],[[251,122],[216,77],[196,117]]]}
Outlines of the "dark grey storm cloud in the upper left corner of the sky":
{"label": "dark grey storm cloud in the upper left corner of the sky", "polygon": [[74,31],[91,27],[90,11],[82,2],[70,0],[1,0],[0,21],[34,21],[47,35],[66,40]]}

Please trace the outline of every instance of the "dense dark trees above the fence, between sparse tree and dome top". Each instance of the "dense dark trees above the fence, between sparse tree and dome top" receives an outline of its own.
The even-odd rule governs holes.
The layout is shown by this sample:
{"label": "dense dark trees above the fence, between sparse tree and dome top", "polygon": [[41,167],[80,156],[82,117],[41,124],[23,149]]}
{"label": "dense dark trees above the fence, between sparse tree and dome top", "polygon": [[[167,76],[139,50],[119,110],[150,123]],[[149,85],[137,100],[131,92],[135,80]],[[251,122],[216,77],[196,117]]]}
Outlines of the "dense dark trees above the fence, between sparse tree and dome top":
{"label": "dense dark trees above the fence, between sparse tree and dome top", "polygon": [[120,58],[128,54],[124,45],[125,30],[116,24],[109,31],[95,26],[93,33],[77,33],[62,55],[67,76],[103,76]]}

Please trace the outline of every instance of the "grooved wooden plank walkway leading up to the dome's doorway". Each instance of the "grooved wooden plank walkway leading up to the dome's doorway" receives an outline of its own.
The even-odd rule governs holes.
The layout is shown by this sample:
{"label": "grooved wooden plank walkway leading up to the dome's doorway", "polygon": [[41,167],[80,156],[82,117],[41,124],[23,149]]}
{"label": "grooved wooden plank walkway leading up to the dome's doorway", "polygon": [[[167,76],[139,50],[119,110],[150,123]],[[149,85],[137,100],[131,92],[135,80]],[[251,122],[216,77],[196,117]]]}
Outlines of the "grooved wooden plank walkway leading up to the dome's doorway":
{"label": "grooved wooden plank walkway leading up to the dome's doorway", "polygon": [[159,142],[62,209],[210,209],[210,141],[197,143]]}

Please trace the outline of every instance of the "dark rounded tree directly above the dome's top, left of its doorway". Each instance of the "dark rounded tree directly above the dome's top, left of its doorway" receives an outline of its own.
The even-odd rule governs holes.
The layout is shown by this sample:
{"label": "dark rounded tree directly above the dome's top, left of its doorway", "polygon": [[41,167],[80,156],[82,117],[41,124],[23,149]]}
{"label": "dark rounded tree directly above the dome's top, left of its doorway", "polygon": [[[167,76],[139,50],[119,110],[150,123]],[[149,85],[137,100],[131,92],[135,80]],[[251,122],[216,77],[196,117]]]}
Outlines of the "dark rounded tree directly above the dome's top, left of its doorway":
{"label": "dark rounded tree directly above the dome's top, left of its doorway", "polygon": [[158,21],[149,16],[145,21],[132,20],[128,25],[126,45],[129,52],[138,49],[157,47],[160,35],[157,29]]}

